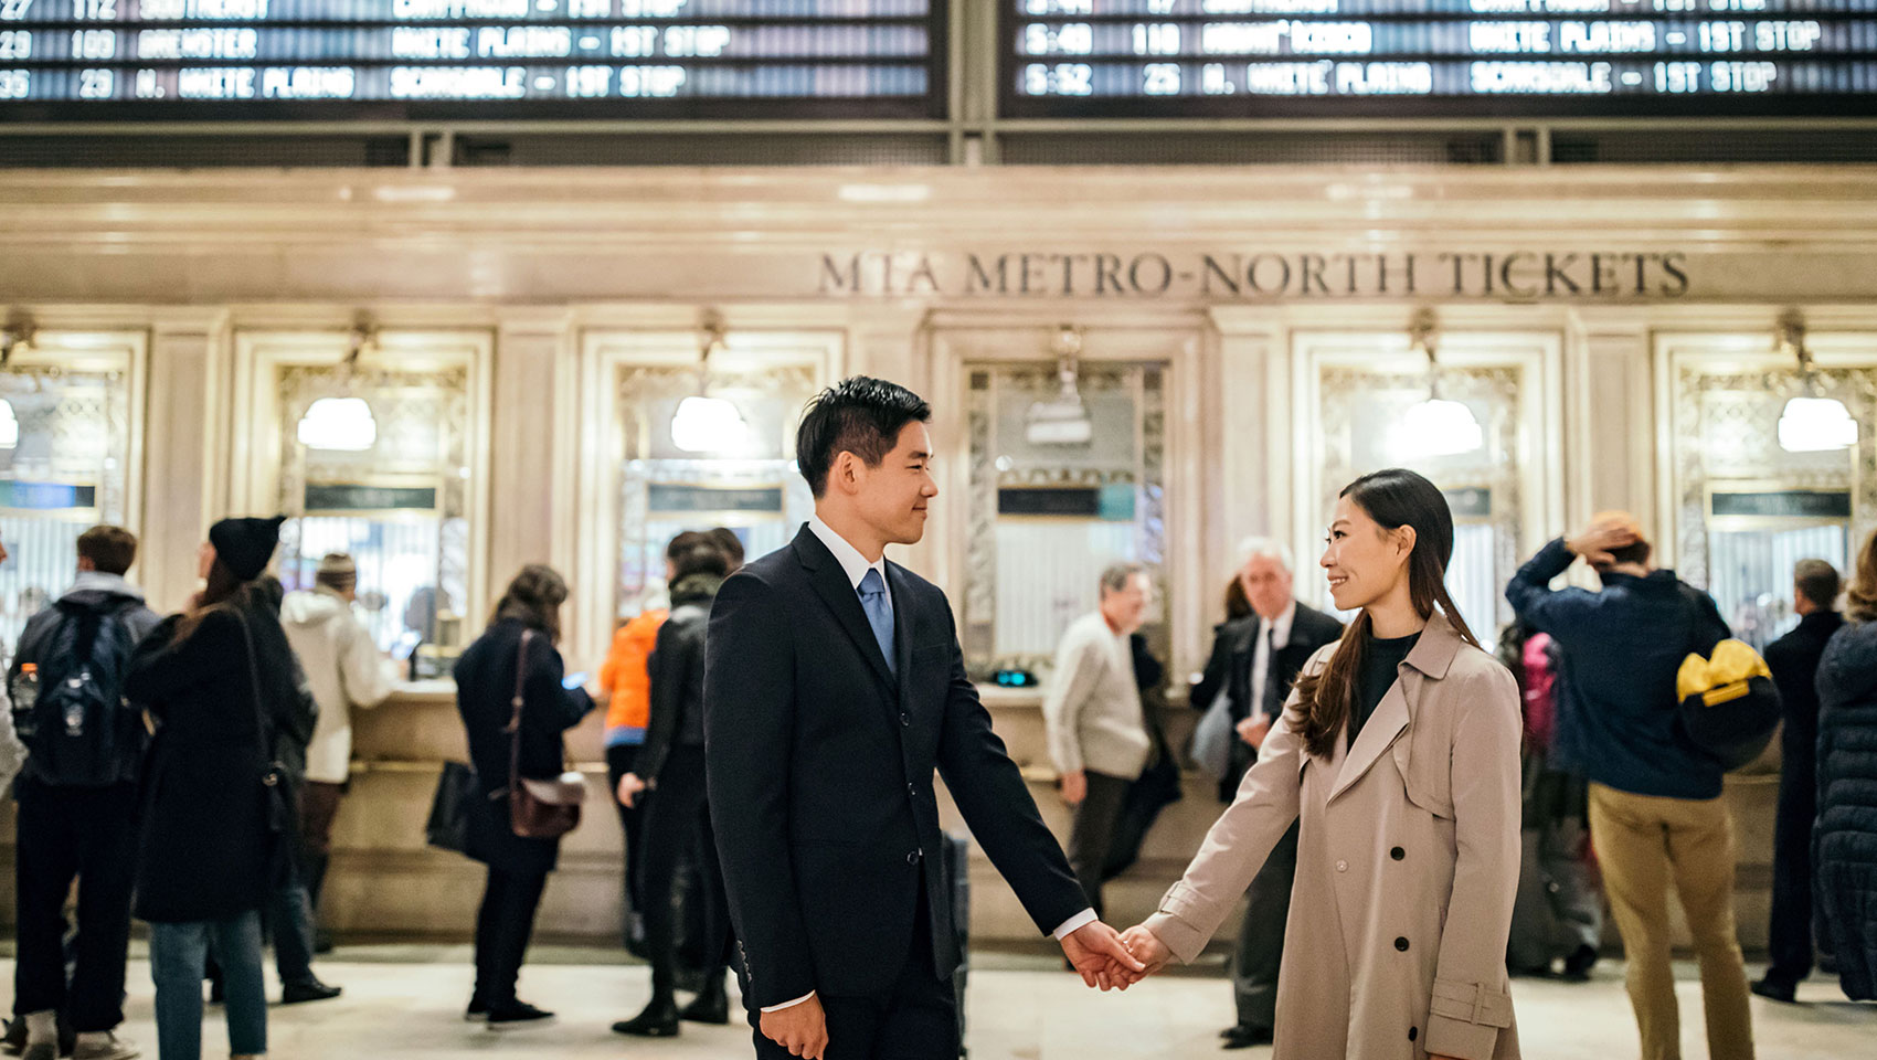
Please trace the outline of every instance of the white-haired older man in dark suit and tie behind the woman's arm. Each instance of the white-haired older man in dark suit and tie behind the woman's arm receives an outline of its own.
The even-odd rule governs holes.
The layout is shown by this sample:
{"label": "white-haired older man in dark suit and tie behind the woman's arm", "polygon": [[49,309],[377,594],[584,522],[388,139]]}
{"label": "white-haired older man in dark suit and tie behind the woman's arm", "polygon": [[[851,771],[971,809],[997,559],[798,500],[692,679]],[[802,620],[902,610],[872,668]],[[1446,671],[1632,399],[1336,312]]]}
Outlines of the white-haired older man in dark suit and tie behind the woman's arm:
{"label": "white-haired older man in dark suit and tie behind the woman's arm", "polygon": [[[1297,602],[1289,548],[1254,537],[1239,546],[1239,587],[1244,589],[1252,613],[1218,627],[1213,660],[1192,690],[1192,705],[1199,711],[1211,709],[1220,692],[1231,698],[1239,745],[1233,747],[1229,775],[1218,784],[1224,803],[1231,801],[1244,771],[1258,760],[1258,747],[1284,709],[1303,664],[1342,636],[1342,623]],[[1278,959],[1284,953],[1284,921],[1289,917],[1295,874],[1297,825],[1291,825],[1246,891],[1244,927],[1239,929],[1239,953],[1231,966],[1239,1022],[1222,1034],[1226,1049],[1271,1041],[1276,1026]]]}

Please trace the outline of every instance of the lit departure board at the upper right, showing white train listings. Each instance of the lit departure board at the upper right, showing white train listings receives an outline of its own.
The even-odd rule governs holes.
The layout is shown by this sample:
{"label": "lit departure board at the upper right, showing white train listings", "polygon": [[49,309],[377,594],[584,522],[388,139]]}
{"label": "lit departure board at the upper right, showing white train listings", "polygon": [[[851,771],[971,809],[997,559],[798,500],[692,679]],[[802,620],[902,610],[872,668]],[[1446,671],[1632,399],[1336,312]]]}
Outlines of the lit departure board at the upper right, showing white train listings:
{"label": "lit departure board at the upper right, showing white train listings", "polygon": [[1877,0],[1002,0],[1015,116],[1877,114]]}

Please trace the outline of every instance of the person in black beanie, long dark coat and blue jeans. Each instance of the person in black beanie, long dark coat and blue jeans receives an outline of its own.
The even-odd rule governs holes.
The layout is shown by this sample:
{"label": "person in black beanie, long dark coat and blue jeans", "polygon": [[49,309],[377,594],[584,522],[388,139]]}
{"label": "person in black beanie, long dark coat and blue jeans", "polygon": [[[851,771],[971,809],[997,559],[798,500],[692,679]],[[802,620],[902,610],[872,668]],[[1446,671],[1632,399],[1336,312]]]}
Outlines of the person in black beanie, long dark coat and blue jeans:
{"label": "person in black beanie, long dark coat and blue jeans", "polygon": [[139,645],[124,694],[156,720],[143,784],[137,917],[150,923],[161,1060],[199,1060],[203,970],[227,977],[229,1052],[267,1052],[261,908],[287,874],[276,741],[312,717],[261,576],[282,516],[221,520],[201,548],[205,587]]}

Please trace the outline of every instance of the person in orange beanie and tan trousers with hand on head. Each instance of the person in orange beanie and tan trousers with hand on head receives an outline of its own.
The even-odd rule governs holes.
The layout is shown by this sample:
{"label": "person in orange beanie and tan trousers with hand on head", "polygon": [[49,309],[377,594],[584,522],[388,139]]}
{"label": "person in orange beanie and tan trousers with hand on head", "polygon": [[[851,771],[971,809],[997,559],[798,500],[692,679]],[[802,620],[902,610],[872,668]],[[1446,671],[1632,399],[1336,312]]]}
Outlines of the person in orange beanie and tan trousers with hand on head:
{"label": "person in orange beanie and tan trousers with hand on head", "polygon": [[[1603,589],[1550,589],[1582,557]],[[1734,932],[1734,839],[1721,764],[1680,730],[1676,674],[1729,638],[1714,600],[1650,565],[1627,512],[1558,538],[1505,587],[1518,617],[1560,649],[1556,758],[1590,780],[1590,839],[1629,962],[1642,1060],[1682,1054],[1669,951],[1669,887],[1701,957],[1712,1060],[1753,1060],[1746,962]]]}

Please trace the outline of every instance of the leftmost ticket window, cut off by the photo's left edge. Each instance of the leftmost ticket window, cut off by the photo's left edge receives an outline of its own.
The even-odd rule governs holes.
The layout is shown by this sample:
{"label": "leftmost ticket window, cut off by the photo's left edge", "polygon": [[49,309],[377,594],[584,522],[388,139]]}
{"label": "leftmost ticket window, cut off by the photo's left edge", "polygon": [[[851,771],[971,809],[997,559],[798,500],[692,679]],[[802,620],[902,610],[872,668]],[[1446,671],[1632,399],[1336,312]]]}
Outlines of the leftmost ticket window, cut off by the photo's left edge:
{"label": "leftmost ticket window, cut off by the photo's left edge", "polygon": [[98,523],[135,531],[137,366],[124,336],[15,338],[0,364],[0,638],[71,587],[77,538]]}

